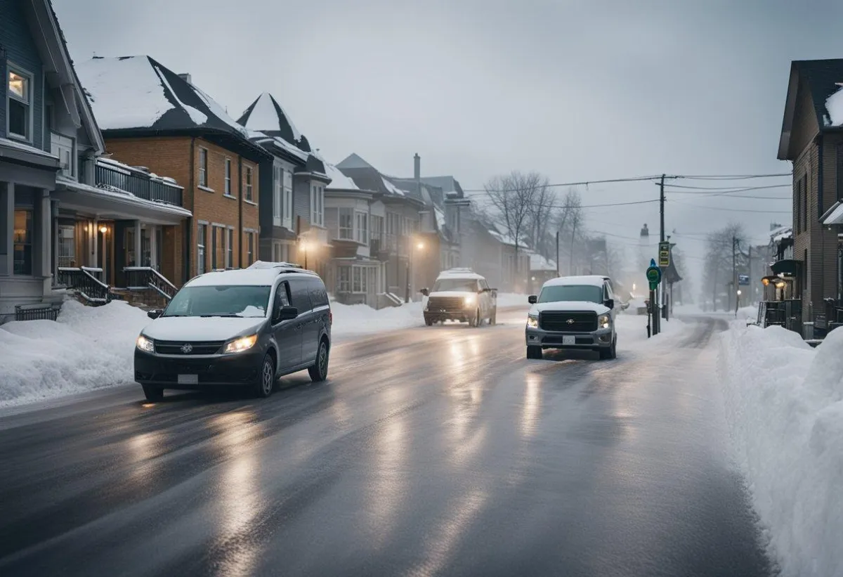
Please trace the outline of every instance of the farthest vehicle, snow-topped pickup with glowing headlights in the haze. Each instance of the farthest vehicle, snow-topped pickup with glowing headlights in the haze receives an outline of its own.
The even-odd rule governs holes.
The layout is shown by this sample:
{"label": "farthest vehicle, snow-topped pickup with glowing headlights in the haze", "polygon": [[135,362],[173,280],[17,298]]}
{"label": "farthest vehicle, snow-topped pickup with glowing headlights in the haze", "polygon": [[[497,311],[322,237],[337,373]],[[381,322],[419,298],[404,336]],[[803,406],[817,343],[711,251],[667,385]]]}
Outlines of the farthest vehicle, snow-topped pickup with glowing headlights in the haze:
{"label": "farthest vehicle, snow-topped pickup with glowing headlights in the haze", "polygon": [[432,289],[422,288],[427,298],[424,321],[459,321],[470,326],[497,322],[497,288],[489,288],[486,278],[470,268],[451,268],[439,273]]}

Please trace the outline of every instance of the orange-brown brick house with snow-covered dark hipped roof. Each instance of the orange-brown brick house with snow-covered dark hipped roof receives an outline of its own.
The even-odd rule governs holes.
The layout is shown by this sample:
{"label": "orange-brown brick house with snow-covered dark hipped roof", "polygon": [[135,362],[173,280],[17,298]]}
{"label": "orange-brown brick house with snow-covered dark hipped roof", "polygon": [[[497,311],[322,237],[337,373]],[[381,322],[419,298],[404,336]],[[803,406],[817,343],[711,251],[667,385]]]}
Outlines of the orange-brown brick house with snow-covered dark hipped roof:
{"label": "orange-brown brick house with snow-covered dark hipped roof", "polygon": [[151,57],[95,57],[78,66],[106,152],[169,175],[192,218],[165,227],[160,270],[176,286],[258,260],[260,168],[271,154],[191,82]]}

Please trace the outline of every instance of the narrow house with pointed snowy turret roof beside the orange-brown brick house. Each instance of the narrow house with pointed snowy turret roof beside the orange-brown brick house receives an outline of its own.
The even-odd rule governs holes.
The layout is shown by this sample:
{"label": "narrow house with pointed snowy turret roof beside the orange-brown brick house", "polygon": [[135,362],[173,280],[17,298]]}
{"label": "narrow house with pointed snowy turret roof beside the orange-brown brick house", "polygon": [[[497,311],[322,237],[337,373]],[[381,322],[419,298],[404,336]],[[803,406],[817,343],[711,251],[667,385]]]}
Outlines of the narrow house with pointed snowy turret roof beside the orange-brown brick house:
{"label": "narrow house with pointed snowy turret roof beside the orange-brown brick house", "polygon": [[[297,262],[325,276],[330,262],[325,224],[325,161],[269,93],[238,119],[271,159],[260,163],[260,259]],[[271,210],[269,210],[271,207]]]}

